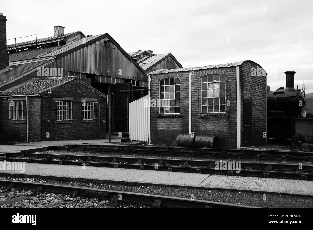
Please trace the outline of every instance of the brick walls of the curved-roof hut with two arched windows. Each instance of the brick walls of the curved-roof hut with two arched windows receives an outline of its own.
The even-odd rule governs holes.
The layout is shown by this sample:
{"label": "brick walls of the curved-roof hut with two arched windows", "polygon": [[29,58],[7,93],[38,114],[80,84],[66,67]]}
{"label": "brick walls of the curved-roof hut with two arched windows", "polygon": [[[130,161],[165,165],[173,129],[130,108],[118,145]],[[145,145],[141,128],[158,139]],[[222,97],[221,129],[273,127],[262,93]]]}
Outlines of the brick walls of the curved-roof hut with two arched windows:
{"label": "brick walls of the curved-roof hut with two arched windows", "polygon": [[[243,117],[242,101],[245,95],[252,98],[252,145],[264,145],[266,138],[265,117],[265,77],[252,77],[251,68],[254,62],[245,62],[241,69],[241,118]],[[260,68],[260,67],[259,67]],[[226,76],[226,115],[201,114],[201,77],[208,74]],[[173,144],[178,134],[189,134],[189,71],[151,75],[151,99],[159,99],[159,81],[165,78],[180,79],[180,114],[160,115],[158,108],[151,108],[151,143]],[[219,146],[223,148],[237,147],[237,91],[236,66],[207,70],[195,70],[192,83],[192,132],[197,134],[217,135]],[[243,118],[241,119],[243,130]],[[241,146],[243,132],[241,133]]]}

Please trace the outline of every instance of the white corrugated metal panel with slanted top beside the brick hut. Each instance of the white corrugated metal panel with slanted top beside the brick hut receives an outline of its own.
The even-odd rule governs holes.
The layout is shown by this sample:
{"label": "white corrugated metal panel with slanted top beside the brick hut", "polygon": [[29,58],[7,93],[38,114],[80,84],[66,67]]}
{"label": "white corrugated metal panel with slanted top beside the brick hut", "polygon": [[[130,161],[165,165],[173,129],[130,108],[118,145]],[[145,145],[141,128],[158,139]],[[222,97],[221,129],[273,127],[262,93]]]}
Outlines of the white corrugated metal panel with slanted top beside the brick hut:
{"label": "white corrugated metal panel with slanted top beside the brick hut", "polygon": [[149,141],[148,95],[129,103],[129,138],[136,141]]}

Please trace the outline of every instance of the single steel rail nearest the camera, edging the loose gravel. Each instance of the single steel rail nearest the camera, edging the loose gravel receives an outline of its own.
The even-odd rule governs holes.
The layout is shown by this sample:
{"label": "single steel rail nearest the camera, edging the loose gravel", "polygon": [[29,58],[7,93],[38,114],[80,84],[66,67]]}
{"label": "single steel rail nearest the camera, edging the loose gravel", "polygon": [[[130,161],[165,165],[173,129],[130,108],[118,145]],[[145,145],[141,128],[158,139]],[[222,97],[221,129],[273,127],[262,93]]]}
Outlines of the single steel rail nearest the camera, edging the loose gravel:
{"label": "single steel rail nearest the camera, edging the loose gravel", "polygon": [[[252,206],[229,204],[222,202],[191,200],[180,197],[168,197],[159,195],[150,195],[134,192],[112,191],[88,187],[75,187],[68,185],[36,183],[29,181],[0,180],[0,187],[9,189],[18,188],[34,190],[38,194],[44,192],[71,194],[74,197],[93,197],[98,199],[111,200],[109,205],[118,206],[120,202],[141,203],[152,205],[152,207],[175,207],[175,208],[258,208]],[[121,199],[119,199],[121,197]]]}

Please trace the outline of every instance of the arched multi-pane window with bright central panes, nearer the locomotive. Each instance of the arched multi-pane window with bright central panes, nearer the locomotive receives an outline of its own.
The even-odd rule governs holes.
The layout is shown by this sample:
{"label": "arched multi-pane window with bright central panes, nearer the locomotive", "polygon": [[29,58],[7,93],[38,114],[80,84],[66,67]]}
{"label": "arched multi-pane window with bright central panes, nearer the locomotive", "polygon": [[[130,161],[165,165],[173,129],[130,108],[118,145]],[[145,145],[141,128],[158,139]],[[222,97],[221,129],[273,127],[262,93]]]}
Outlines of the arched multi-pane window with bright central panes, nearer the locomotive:
{"label": "arched multi-pane window with bright central panes, nearer the locomotive", "polygon": [[209,74],[201,78],[202,113],[226,113],[225,75]]}

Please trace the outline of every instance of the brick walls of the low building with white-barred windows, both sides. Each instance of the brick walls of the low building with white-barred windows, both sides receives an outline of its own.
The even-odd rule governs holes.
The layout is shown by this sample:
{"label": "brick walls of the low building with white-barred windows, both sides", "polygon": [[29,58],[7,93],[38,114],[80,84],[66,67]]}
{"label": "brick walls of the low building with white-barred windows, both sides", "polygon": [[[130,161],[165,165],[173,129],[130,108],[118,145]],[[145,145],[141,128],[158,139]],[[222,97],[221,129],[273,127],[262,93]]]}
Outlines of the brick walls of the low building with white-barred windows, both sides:
{"label": "brick walls of the low building with white-barred windows, both sides", "polygon": [[[82,120],[82,102],[81,98],[97,99],[97,119],[95,122],[85,122]],[[36,141],[56,141],[56,140],[74,140],[74,139],[97,139],[99,138],[99,122],[101,125],[100,138],[105,138],[105,114],[106,99],[95,93],[84,85],[74,82],[56,91],[52,91],[52,96],[43,95],[41,97],[33,96],[29,99],[29,142]],[[54,97],[73,98],[72,103],[72,122],[57,123],[56,120],[56,102]],[[26,98],[24,98],[26,100]],[[105,99],[105,100],[103,100]],[[103,100],[103,101],[102,101]],[[101,102],[101,103],[100,103]],[[99,119],[101,107],[101,117]],[[26,141],[26,121],[12,121],[8,119],[8,99],[0,100],[0,134],[3,134],[1,141]],[[49,120],[49,121],[48,121]],[[14,123],[12,123],[14,122]],[[18,123],[16,123],[18,122]],[[46,132],[50,137],[46,137]]]}

